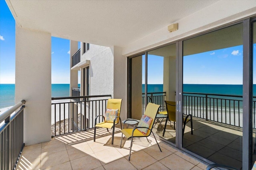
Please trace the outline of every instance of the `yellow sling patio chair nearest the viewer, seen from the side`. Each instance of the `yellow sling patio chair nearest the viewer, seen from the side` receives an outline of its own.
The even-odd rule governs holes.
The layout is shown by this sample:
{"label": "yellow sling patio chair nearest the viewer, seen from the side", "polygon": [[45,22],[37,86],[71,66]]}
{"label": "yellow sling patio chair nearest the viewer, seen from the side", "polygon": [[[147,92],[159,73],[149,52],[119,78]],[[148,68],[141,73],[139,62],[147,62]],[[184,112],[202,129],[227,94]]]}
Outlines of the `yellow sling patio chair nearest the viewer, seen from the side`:
{"label": "yellow sling patio chair nearest the viewer, seen from the side", "polygon": [[[146,107],[146,111],[142,118],[140,119],[140,122],[137,127],[134,127],[133,129],[122,129],[122,137],[121,137],[121,144],[120,148],[122,148],[122,139],[123,139],[123,134],[126,136],[127,139],[131,139],[131,145],[130,145],[130,153],[129,153],[129,160],[131,157],[131,150],[132,150],[132,142],[134,137],[148,137],[150,136],[153,128],[154,121],[156,119],[156,113],[158,112],[160,105],[148,103]],[[125,123],[125,122],[124,122]],[[156,137],[154,133],[152,132],[155,140]],[[148,138],[147,138],[148,140]],[[149,141],[148,141],[149,142]],[[156,141],[157,145],[158,142]],[[160,151],[162,152],[160,146],[158,145]]]}

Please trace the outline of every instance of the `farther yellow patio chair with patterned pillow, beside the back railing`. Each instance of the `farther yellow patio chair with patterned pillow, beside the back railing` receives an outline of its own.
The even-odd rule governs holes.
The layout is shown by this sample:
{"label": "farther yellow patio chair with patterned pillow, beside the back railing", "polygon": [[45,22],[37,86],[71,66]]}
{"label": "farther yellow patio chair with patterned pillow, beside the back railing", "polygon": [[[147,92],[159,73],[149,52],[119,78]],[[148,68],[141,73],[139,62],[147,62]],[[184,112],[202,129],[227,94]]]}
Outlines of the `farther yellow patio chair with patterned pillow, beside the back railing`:
{"label": "farther yellow patio chair with patterned pillow, beside the back railing", "polygon": [[[117,125],[119,123],[119,121],[120,121],[121,129],[122,129],[122,123],[121,123],[122,121],[120,118],[121,104],[122,104],[122,99],[108,99],[105,116],[98,115],[95,118],[94,139],[93,139],[94,142],[95,142],[95,138],[96,138],[96,128],[104,127],[104,128],[107,128],[107,131],[108,131],[108,129],[113,128],[111,144],[112,145],[114,144],[115,125]],[[97,118],[101,117],[101,116],[103,117],[104,121],[96,124]]]}

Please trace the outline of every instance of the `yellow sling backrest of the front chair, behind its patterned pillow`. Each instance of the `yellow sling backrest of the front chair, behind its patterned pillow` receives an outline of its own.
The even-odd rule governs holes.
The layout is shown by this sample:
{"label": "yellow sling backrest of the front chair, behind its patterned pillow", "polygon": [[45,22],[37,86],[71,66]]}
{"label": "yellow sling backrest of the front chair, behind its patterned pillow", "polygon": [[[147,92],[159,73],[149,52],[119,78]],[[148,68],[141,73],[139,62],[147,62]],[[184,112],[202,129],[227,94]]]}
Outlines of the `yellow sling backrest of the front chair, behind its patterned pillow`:
{"label": "yellow sling backrest of the front chair, behind its patterned pillow", "polygon": [[[144,115],[152,118],[150,126],[148,127],[150,130],[152,130],[159,107],[160,107],[160,105],[153,104],[153,103],[148,103],[148,105],[146,107]],[[150,135],[150,133],[151,133],[151,131],[148,131],[146,135]]]}

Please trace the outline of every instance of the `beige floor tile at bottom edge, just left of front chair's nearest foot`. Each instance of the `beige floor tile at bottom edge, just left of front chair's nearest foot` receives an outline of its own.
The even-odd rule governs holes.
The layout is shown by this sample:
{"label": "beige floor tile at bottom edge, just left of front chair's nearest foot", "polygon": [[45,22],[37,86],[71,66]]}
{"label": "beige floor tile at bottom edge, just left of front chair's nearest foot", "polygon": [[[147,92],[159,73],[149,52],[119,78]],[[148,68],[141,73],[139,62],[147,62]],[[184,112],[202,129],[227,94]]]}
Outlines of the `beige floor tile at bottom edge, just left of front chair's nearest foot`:
{"label": "beige floor tile at bottom edge, just left of front chair's nearest foot", "polygon": [[136,170],[126,158],[115,160],[103,166],[105,170]]}

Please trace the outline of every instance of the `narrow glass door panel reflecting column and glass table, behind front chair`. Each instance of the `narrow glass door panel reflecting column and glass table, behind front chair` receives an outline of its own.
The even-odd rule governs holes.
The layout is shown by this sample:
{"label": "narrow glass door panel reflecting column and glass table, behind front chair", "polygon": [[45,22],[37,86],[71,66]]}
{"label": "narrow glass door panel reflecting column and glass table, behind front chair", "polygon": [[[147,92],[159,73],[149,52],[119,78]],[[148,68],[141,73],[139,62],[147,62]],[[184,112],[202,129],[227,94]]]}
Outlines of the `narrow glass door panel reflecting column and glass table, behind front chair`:
{"label": "narrow glass door panel reflecting column and glass table, behind front chair", "polygon": [[[160,105],[159,113],[156,115],[154,133],[175,143],[175,121],[167,119],[165,100],[175,102],[176,44],[149,51],[147,61],[148,102]],[[174,119],[175,114],[174,111]]]}

